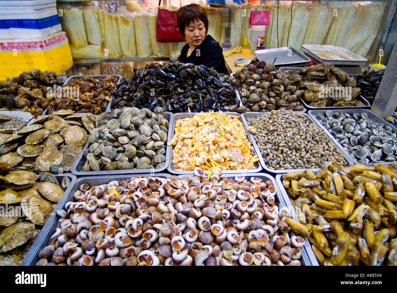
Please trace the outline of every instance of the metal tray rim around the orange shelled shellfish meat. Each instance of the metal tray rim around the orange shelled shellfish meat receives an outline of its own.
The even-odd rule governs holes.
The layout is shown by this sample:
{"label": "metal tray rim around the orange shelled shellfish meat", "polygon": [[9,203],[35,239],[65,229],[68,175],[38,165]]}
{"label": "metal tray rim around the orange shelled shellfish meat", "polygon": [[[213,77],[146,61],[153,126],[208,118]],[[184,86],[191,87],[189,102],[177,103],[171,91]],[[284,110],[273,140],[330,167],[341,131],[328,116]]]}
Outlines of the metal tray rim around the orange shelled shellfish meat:
{"label": "metal tray rim around the orange shelled shellfish meat", "polygon": [[[240,114],[240,113],[237,113],[237,112],[224,112],[224,113],[225,113],[225,114],[228,114],[228,115],[236,115],[236,116],[239,116],[239,117],[240,117],[239,120],[243,123],[243,120],[242,120],[242,118],[241,118],[241,114]],[[179,119],[184,119],[184,118],[191,118],[191,117],[193,117],[195,114],[197,114],[197,113],[186,113],[186,112],[185,112],[185,113],[174,114],[174,119],[173,119],[171,131],[168,132],[168,143],[171,142],[172,137],[173,137],[173,134],[174,134],[173,129],[174,129],[174,126],[175,126],[175,121],[176,121],[176,120],[179,120]],[[170,125],[171,125],[171,123],[170,123]],[[243,123],[243,125],[244,125],[244,123]],[[247,139],[249,139],[248,128],[247,128],[245,125],[244,125],[244,129],[245,129],[245,133],[247,133]],[[168,168],[167,168],[168,172],[170,172],[171,174],[176,174],[176,175],[179,175],[179,174],[193,175],[193,170],[191,170],[191,171],[177,171],[177,170],[174,169],[175,167],[173,166],[173,163],[172,163],[172,151],[173,151],[173,149],[174,149],[174,146],[173,146],[173,145],[167,148],[167,154],[168,154],[168,158],[169,158],[169,160],[170,160],[170,164],[169,164],[169,166],[168,166]],[[168,152],[169,152],[169,153],[168,153]],[[254,154],[258,155],[258,154],[256,153],[256,150],[254,151]],[[260,156],[258,156],[258,157],[260,158]],[[222,174],[256,173],[256,172],[261,172],[261,171],[262,171],[262,167],[260,166],[259,161],[256,162],[256,163],[254,164],[254,166],[255,166],[255,169],[252,169],[252,170],[249,170],[249,169],[241,169],[241,170],[233,170],[233,169],[232,169],[232,170],[222,170]],[[205,171],[204,171],[204,174],[205,174]]]}

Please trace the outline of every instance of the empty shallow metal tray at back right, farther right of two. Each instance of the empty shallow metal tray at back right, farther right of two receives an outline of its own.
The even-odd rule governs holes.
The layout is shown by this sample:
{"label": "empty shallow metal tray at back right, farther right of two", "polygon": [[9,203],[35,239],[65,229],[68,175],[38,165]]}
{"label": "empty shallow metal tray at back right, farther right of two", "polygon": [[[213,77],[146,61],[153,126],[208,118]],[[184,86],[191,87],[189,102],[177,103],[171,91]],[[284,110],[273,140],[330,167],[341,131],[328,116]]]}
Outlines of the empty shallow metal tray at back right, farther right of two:
{"label": "empty shallow metal tray at back right, farther right of two", "polygon": [[335,65],[363,65],[368,61],[366,58],[341,46],[303,44],[301,47],[305,54],[322,63],[329,62]]}

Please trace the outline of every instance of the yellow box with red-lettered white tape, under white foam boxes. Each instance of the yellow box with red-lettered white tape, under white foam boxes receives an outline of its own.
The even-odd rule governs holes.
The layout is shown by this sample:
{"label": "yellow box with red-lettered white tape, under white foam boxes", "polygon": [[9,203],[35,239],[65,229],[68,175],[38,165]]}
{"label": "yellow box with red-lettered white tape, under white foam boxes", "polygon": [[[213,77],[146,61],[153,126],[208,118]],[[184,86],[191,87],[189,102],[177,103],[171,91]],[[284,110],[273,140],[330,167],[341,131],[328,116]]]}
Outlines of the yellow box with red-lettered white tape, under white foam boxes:
{"label": "yellow box with red-lettered white tape, under white foam boxes", "polygon": [[66,33],[60,31],[44,38],[0,40],[0,80],[39,68],[57,74],[73,65]]}

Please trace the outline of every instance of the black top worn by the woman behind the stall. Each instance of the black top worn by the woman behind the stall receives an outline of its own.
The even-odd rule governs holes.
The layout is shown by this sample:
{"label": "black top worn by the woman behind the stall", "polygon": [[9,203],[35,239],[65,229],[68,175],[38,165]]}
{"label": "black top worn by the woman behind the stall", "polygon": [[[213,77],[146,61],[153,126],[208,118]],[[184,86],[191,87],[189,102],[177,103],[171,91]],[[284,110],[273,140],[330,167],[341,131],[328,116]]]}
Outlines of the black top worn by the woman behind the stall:
{"label": "black top worn by the woman behind the stall", "polygon": [[205,65],[209,68],[214,67],[218,73],[226,74],[225,58],[219,43],[210,35],[206,35],[202,43],[195,48],[189,57],[186,57],[189,50],[189,43],[183,46],[179,61],[183,63],[193,63],[195,65]]}

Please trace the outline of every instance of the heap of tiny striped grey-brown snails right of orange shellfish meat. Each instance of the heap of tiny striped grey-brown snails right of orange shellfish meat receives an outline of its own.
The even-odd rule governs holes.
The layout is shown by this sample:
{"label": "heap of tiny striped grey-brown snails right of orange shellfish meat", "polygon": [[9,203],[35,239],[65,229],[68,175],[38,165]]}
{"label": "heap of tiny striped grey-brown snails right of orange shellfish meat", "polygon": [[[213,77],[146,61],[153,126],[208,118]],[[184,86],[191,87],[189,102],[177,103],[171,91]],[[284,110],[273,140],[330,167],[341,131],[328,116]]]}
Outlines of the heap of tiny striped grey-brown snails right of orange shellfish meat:
{"label": "heap of tiny striped grey-brown snails right of orange shellfish meat", "polygon": [[299,112],[273,110],[247,122],[268,168],[320,168],[331,158],[346,166],[324,129]]}

